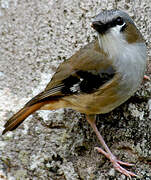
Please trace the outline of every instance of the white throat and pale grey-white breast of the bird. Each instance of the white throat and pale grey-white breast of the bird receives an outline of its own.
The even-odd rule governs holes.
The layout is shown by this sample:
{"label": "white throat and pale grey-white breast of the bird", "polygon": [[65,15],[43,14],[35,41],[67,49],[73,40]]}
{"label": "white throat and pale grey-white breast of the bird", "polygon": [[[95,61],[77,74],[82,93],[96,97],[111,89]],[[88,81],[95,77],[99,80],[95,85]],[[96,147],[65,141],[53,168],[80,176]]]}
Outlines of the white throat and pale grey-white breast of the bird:
{"label": "white throat and pale grey-white breast of the bird", "polygon": [[122,83],[134,93],[142,81],[146,67],[145,43],[128,43],[118,26],[105,35],[98,35],[100,48],[122,76]]}

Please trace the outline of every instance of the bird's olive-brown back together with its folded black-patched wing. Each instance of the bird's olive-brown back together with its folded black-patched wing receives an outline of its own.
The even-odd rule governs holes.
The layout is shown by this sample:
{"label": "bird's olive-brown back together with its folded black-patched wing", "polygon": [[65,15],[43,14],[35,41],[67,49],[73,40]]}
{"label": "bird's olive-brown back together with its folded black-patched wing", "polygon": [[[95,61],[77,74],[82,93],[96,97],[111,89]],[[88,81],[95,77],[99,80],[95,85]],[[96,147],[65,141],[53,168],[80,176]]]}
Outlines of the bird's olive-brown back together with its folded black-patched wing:
{"label": "bird's olive-brown back together with its folded black-patched wing", "polygon": [[114,75],[111,62],[99,48],[98,41],[94,41],[62,63],[46,89],[26,106],[61,96],[92,93],[113,79]]}

